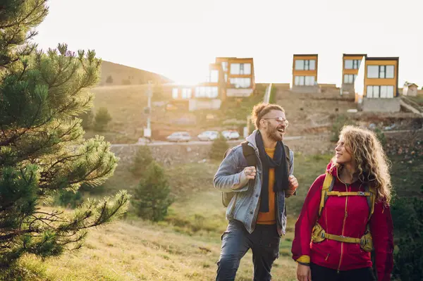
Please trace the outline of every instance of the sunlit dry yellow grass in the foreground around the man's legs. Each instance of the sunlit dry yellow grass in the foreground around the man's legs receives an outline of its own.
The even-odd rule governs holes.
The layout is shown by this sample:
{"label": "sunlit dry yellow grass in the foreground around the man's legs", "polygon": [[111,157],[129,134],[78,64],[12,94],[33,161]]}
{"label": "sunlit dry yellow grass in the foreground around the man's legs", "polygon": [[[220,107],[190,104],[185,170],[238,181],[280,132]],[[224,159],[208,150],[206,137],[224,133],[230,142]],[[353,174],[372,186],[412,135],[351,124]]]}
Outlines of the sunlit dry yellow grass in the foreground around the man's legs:
{"label": "sunlit dry yellow grass in the foreground around the man's legs", "polygon": [[[92,232],[87,246],[61,258],[27,256],[27,268],[42,268],[40,280],[214,280],[220,239],[198,237],[142,221],[119,222]],[[251,280],[252,255],[241,262],[237,280]],[[295,263],[281,255],[274,280],[294,280]],[[29,280],[29,279],[28,279]]]}

